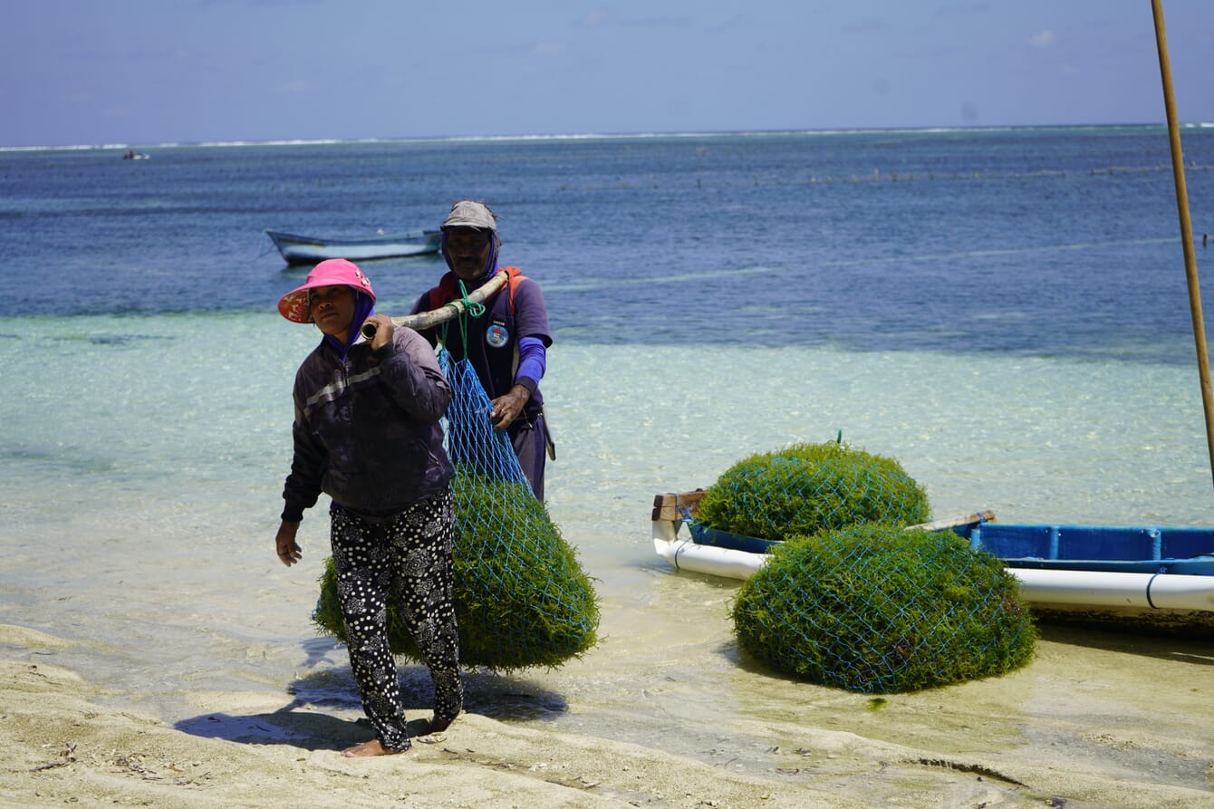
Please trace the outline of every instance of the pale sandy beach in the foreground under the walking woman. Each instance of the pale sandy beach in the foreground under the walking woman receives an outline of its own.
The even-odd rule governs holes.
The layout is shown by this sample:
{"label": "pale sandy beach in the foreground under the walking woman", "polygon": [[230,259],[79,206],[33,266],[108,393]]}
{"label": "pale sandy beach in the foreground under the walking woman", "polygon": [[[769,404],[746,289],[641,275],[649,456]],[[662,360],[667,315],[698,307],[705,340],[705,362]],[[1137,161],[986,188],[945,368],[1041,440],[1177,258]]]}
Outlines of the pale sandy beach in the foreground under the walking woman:
{"label": "pale sandy beach in the foreground under the walking woman", "polygon": [[[782,720],[773,688],[709,760],[475,709],[368,760],[339,754],[369,736],[348,714],[265,694],[199,696],[215,723],[265,731],[245,741],[114,707],[120,695],[55,664],[70,643],[0,627],[4,805],[1214,807],[1201,644],[1045,627],[1008,677],[884,700],[804,686],[810,709]],[[756,743],[766,766],[733,764]]]}

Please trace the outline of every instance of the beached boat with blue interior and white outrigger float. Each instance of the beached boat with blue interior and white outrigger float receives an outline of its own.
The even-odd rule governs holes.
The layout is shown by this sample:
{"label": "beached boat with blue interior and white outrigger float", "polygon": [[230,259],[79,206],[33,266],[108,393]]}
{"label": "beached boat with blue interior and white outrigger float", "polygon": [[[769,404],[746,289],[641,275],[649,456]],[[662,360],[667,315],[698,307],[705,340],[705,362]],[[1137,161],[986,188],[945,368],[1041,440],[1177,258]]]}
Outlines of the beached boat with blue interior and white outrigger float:
{"label": "beached boat with blue interior and white outrigger float", "polygon": [[[698,525],[703,496],[653,498],[654,551],[676,570],[749,578],[778,543]],[[909,527],[953,531],[999,556],[1034,612],[1214,638],[1214,528],[1002,524],[993,511]]]}

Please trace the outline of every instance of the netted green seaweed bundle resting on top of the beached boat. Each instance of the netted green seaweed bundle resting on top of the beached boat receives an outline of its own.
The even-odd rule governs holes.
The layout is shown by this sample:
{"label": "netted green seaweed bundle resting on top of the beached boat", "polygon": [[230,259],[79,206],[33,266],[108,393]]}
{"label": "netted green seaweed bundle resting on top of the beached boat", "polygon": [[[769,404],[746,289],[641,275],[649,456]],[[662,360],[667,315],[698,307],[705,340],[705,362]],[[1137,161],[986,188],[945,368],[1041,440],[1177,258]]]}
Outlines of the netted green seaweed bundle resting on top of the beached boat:
{"label": "netted green seaweed bundle resting on top of the beached boat", "polygon": [[861,522],[915,525],[927,496],[898,462],[843,441],[794,443],[744,458],[699,502],[699,524],[778,542]]}

